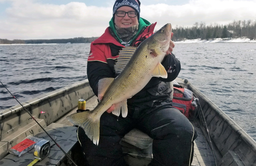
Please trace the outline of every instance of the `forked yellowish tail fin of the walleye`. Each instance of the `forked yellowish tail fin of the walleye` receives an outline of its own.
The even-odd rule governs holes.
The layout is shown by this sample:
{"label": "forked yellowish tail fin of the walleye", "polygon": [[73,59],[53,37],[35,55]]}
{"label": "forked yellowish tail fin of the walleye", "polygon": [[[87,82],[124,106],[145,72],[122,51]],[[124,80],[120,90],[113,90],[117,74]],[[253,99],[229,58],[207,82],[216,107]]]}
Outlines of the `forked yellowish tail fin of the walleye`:
{"label": "forked yellowish tail fin of the walleye", "polygon": [[92,111],[78,112],[72,115],[69,115],[67,119],[84,129],[85,134],[92,142],[96,145],[99,144],[100,138],[100,120],[93,120],[91,115]]}

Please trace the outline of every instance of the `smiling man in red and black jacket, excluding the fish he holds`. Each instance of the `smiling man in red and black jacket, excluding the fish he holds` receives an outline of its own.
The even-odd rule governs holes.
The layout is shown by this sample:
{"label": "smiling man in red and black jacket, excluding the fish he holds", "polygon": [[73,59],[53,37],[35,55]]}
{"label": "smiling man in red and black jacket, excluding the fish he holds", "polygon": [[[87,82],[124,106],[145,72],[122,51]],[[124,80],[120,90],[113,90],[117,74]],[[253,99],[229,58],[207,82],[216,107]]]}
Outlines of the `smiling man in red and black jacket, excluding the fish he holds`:
{"label": "smiling man in red and black jacket, excluding the fish he holds", "polygon": [[[98,96],[100,79],[118,75],[114,64],[119,50],[125,46],[138,47],[153,34],[155,26],[156,23],[150,25],[147,20],[140,18],[139,0],[116,0],[109,27],[92,42],[88,57],[87,76],[95,95]],[[194,128],[178,109],[172,107],[171,90],[165,83],[174,80],[180,72],[180,61],[171,53],[173,47],[171,41],[162,61],[168,77],[153,77],[139,93],[127,99],[127,117],[110,113],[114,105],[101,115],[98,146],[78,127],[78,140],[89,165],[125,165],[119,142],[133,128],[153,138],[153,160],[150,166],[191,164]]]}

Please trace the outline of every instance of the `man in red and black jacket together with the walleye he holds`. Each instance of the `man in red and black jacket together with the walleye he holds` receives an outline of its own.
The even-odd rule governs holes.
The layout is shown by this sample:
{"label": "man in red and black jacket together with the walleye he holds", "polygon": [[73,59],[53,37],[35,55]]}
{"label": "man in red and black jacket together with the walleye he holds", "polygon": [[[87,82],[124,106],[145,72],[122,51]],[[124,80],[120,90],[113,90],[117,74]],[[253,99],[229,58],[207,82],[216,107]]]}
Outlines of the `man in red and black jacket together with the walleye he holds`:
{"label": "man in red and black jacket together with the walleye he holds", "polygon": [[140,18],[139,0],[116,0],[109,27],[91,44],[87,76],[100,102],[68,117],[79,125],[78,140],[89,165],[125,166],[119,142],[133,128],[153,139],[150,166],[192,162],[196,131],[172,107],[172,90],[165,83],[180,72],[172,54],[172,26],[153,33],[155,26]]}

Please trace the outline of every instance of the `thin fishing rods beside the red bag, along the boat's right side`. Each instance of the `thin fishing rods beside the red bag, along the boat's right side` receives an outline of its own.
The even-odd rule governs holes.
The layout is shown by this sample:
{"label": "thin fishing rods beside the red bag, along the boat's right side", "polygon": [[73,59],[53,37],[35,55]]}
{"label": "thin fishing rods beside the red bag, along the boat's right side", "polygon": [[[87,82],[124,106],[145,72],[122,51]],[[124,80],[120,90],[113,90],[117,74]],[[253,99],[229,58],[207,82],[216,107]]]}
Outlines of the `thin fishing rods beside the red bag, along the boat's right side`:
{"label": "thin fishing rods beside the red bag, along the boat's right side", "polygon": [[[194,94],[194,95],[196,97],[196,94]],[[207,146],[207,142],[210,142],[210,146],[212,148],[212,154],[213,154],[214,162],[215,162],[215,165],[217,166],[216,158],[215,158],[213,147],[212,147],[212,141],[211,141],[210,134],[209,134],[209,131],[208,131],[208,128],[207,128],[207,124],[206,124],[206,121],[205,121],[205,118],[204,118],[204,113],[203,113],[203,110],[202,110],[201,105],[200,105],[198,100],[196,100],[196,103],[197,103],[199,119],[200,119],[201,125],[203,127],[202,131],[203,131],[203,134],[204,134],[204,139],[205,139],[205,144],[206,144],[206,148],[207,148],[207,151],[208,151],[210,165],[212,165],[212,162],[211,162],[211,159],[210,159],[210,154],[209,154],[209,149],[208,149],[208,146]],[[204,124],[205,124],[205,128],[206,128],[209,140],[206,139]]]}

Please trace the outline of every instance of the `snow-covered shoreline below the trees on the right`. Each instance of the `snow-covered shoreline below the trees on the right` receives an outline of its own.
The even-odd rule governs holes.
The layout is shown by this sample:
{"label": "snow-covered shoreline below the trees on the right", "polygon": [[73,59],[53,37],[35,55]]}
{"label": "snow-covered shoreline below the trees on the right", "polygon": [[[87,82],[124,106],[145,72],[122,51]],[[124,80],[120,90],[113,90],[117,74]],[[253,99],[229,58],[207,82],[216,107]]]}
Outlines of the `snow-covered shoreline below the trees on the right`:
{"label": "snow-covered shoreline below the trees on the right", "polygon": [[239,43],[239,42],[249,42],[256,43],[256,40],[250,40],[249,38],[236,38],[236,39],[226,39],[222,40],[222,38],[216,38],[214,40],[201,40],[201,39],[193,39],[193,40],[183,40],[183,41],[174,41],[174,43]]}

